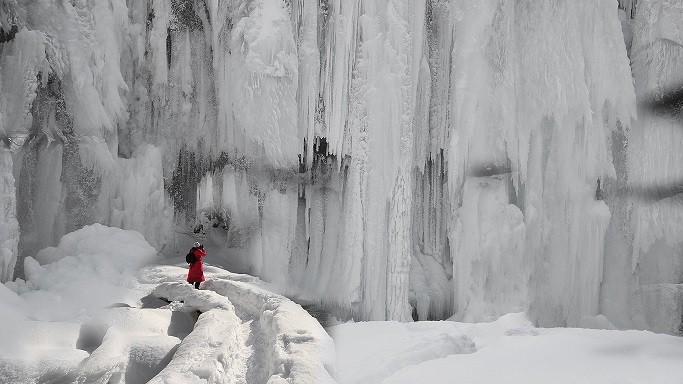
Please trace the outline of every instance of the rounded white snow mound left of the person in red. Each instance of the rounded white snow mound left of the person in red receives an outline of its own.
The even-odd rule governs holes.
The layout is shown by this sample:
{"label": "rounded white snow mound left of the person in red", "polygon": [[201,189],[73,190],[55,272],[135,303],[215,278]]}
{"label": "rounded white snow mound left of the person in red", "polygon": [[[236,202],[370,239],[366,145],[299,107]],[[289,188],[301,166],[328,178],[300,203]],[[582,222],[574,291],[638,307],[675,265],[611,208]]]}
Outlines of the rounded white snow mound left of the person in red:
{"label": "rounded white snow mound left of the person in red", "polygon": [[7,286],[36,320],[84,319],[111,303],[135,304],[130,288],[156,250],[135,231],[93,224],[24,261],[26,281]]}

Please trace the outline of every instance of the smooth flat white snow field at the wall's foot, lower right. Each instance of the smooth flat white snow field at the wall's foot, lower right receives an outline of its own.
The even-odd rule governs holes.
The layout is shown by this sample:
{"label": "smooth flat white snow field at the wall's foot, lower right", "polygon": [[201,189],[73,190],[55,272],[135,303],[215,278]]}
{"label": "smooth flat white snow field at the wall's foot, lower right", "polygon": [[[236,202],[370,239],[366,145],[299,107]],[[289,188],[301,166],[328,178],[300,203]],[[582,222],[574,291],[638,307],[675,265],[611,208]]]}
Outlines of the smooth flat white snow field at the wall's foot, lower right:
{"label": "smooth flat white snow field at the wall's foot, lower right", "polygon": [[344,384],[683,382],[683,339],[647,331],[535,328],[524,314],[330,331]]}

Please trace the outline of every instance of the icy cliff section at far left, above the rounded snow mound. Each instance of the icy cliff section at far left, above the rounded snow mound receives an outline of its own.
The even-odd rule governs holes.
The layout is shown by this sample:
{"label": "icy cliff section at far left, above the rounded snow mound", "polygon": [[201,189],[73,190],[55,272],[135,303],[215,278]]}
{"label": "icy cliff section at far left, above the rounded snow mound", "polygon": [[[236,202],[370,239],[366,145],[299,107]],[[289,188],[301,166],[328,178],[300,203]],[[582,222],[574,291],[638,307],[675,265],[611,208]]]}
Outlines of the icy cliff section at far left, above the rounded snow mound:
{"label": "icy cliff section at far left, above the rounded snow mound", "polygon": [[21,233],[10,275],[23,276],[23,257],[93,222],[138,229],[163,245],[170,211],[161,152],[136,154],[145,160],[132,166],[118,158],[117,127],[129,116],[125,2],[6,1],[0,11],[0,134],[13,153],[3,161],[3,188],[16,196],[16,204],[3,198],[3,225],[18,221]]}

